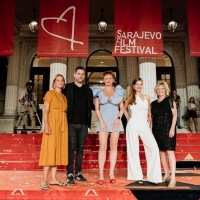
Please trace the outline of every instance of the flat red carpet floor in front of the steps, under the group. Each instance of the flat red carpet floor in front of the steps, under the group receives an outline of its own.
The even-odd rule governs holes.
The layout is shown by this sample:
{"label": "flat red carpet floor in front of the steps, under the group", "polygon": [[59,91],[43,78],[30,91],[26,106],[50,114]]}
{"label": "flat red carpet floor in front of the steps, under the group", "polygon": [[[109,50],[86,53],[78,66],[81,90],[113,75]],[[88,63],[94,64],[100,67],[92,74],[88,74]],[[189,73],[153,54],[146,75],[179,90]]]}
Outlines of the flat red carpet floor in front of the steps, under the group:
{"label": "flat red carpet floor in front of the steps, under the group", "polygon": [[[177,170],[177,187],[170,190],[167,188],[167,183],[155,186],[147,182],[141,186],[134,181],[127,181],[126,170],[117,170],[117,182],[110,184],[108,173],[106,170],[106,183],[101,186],[96,183],[97,170],[84,170],[83,174],[88,182],[76,181],[75,186],[50,186],[50,190],[42,191],[40,189],[42,171],[0,171],[0,200],[136,200],[137,190],[140,190],[140,193],[150,190],[151,194],[156,191],[180,190],[181,193],[183,190],[191,192],[200,190],[200,170]],[[64,171],[59,171],[57,177],[58,180],[66,182]]]}

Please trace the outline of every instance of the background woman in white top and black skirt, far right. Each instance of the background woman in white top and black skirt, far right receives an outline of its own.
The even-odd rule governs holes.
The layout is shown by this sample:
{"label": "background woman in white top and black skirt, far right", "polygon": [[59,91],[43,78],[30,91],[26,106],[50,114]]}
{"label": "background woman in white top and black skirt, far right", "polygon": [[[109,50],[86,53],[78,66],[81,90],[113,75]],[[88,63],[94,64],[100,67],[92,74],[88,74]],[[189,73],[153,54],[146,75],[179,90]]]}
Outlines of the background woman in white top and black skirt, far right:
{"label": "background woman in white top and black skirt, far right", "polygon": [[193,132],[193,123],[196,129],[196,132],[199,131],[198,120],[197,120],[197,105],[195,103],[194,97],[190,97],[188,103],[188,110],[189,110],[189,123],[190,123],[190,131]]}

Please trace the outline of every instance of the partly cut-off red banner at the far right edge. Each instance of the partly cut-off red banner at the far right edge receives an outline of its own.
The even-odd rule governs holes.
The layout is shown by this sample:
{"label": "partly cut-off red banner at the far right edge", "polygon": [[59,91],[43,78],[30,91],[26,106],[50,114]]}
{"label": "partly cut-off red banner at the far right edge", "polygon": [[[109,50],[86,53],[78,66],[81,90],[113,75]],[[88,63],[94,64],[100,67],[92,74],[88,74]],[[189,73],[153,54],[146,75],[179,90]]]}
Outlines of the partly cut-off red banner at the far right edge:
{"label": "partly cut-off red banner at the far right edge", "polygon": [[187,0],[190,55],[200,56],[200,0]]}

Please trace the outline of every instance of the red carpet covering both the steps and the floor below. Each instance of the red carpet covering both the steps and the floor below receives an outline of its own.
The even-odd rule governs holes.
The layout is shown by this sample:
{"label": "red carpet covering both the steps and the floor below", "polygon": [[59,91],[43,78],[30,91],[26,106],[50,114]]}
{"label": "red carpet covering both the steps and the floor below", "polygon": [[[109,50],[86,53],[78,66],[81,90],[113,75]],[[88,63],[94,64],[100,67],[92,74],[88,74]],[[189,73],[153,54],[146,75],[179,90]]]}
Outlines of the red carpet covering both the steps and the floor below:
{"label": "red carpet covering both the steps and the floor below", "polygon": [[[155,186],[145,182],[141,186],[134,181],[127,181],[125,137],[125,134],[121,134],[119,139],[116,164],[117,182],[115,184],[109,183],[108,170],[105,171],[106,184],[102,186],[96,184],[99,141],[97,134],[89,134],[83,158],[83,174],[88,182],[77,182],[71,187],[51,186],[50,190],[42,191],[40,189],[42,171],[38,167],[42,134],[0,134],[0,200],[200,199],[200,170],[198,167],[194,167],[196,168],[194,170],[177,169],[177,187],[171,190],[167,188],[167,183]],[[142,142],[140,143],[141,166],[145,171],[146,159]],[[198,164],[200,162],[200,134],[177,134],[176,158],[177,161],[183,163],[187,161]],[[109,160],[109,147],[107,160]],[[105,168],[109,169],[109,161],[106,162]],[[58,179],[65,182],[65,167],[59,167],[59,169]],[[176,191],[177,194],[174,193]]]}

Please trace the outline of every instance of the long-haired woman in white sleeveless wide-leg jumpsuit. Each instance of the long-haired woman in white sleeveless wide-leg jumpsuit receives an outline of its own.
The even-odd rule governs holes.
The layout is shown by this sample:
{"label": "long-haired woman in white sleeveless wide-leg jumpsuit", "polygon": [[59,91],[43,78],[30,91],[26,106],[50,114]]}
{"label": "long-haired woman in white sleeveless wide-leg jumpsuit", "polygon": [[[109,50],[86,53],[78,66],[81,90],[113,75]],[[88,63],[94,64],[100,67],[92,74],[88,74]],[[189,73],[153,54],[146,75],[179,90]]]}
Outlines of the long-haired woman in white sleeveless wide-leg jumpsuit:
{"label": "long-haired woman in white sleeveless wide-leg jumpsuit", "polygon": [[[161,183],[161,164],[159,149],[156,140],[149,127],[151,121],[150,98],[142,94],[143,81],[141,78],[132,82],[130,93],[125,101],[125,111],[128,123],[126,126],[128,180],[136,180],[143,184],[143,173],[139,157],[139,137],[143,142],[147,160],[147,181]],[[129,106],[131,116],[126,108]]]}

